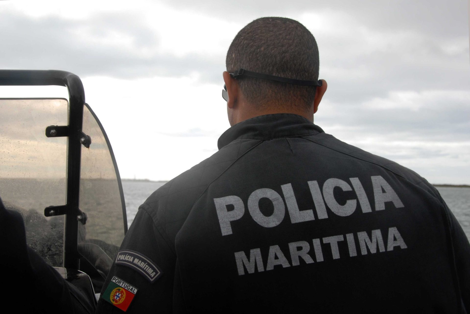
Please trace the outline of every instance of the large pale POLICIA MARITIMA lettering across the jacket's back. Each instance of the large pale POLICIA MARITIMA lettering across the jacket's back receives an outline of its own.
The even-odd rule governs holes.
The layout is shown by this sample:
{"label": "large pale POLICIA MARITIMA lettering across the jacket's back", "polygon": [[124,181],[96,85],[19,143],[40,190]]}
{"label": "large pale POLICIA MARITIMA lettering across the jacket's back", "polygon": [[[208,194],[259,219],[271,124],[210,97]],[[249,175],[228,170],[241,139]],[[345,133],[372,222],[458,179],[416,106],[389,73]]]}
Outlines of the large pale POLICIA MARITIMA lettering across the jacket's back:
{"label": "large pale POLICIA MARITIMA lettering across the jacket's back", "polygon": [[[374,193],[375,211],[384,210],[386,202],[392,202],[395,208],[405,207],[392,186],[385,181],[382,176],[371,176],[370,179]],[[317,181],[307,182],[315,206],[317,219],[328,218],[327,207],[337,216],[349,216],[355,212],[358,202],[362,213],[372,212],[371,204],[369,203],[359,178],[349,178],[349,181],[352,187],[344,180],[330,178],[325,181],[322,189],[320,189]],[[357,199],[348,199],[344,205],[341,205],[337,202],[333,194],[335,188],[340,188],[343,191],[354,191]],[[278,192],[267,188],[258,189],[251,193],[247,202],[248,212],[255,222],[265,228],[272,228],[279,225],[285,216],[285,205],[287,205],[287,212],[291,223],[315,220],[313,209],[299,210],[297,199],[290,183],[281,185],[281,189],[283,197]],[[264,215],[259,209],[259,200],[262,198],[270,199],[273,204],[274,211],[270,216]],[[222,236],[233,234],[231,222],[243,217],[245,213],[245,203],[240,197],[230,195],[214,199],[214,204],[219,218]],[[227,206],[229,205],[233,206],[232,210],[228,210]],[[268,253],[265,259],[262,257],[260,248],[251,249],[248,255],[244,251],[235,252],[238,275],[244,275],[245,268],[249,274],[252,274],[255,272],[255,268],[258,272],[261,272],[264,270],[272,270],[275,265],[282,265],[283,268],[297,266],[300,265],[300,259],[306,264],[313,263],[313,253],[309,253],[311,245],[313,245],[316,262],[324,260],[323,251],[328,250],[328,246],[333,260],[339,259],[341,255],[338,242],[344,240],[347,242],[350,257],[358,255],[356,241],[359,243],[361,255],[367,255],[368,252],[376,253],[377,247],[379,252],[392,251],[396,246],[399,246],[401,249],[407,248],[405,241],[396,227],[388,228],[388,231],[385,231],[384,234],[387,234],[386,247],[380,229],[372,230],[370,237],[368,232],[361,231],[357,233],[347,233],[345,235],[340,234],[330,237],[315,238],[309,241],[291,242],[287,245],[289,247],[290,262],[287,260],[286,255],[282,252],[279,245],[271,245],[269,250],[266,249]],[[321,243],[323,245],[321,245]],[[264,263],[265,260],[266,264]]]}

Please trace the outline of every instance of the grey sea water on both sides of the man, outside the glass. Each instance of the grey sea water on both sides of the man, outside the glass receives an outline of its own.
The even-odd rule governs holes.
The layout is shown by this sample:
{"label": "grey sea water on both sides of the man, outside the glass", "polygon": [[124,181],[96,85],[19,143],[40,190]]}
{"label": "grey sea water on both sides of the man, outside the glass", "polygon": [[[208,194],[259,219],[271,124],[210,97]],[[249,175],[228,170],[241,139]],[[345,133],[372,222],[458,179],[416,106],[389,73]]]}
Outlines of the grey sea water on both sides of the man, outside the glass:
{"label": "grey sea water on both sides of the man, outside the glass", "polygon": [[[139,206],[165,182],[123,181],[127,224],[131,225]],[[470,239],[470,188],[438,187],[442,198]]]}

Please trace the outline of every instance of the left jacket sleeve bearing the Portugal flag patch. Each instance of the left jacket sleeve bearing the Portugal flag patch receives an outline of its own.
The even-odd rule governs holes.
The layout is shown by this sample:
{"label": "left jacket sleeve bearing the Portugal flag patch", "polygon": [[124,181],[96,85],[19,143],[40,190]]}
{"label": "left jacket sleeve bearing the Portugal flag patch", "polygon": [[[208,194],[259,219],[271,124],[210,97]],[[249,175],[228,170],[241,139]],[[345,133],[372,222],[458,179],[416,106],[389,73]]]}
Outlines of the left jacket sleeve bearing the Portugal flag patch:
{"label": "left jacket sleeve bearing the Portugal flag patch", "polygon": [[[176,255],[161,232],[149,214],[149,207],[142,205],[114,258],[96,313],[172,311]],[[125,299],[121,294],[113,295],[113,290],[119,286],[129,289],[124,291]],[[117,298],[114,302],[113,297]]]}

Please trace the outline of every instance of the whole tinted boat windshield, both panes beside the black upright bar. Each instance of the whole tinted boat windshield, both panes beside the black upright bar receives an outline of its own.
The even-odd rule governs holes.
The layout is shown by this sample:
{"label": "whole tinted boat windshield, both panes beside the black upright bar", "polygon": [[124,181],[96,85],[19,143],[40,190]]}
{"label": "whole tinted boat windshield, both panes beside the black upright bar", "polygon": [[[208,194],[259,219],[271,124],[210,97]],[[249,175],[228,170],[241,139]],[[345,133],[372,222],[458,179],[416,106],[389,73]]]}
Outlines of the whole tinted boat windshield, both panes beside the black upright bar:
{"label": "whole tinted boat windshield, both panes beside the black upright bar", "polygon": [[[27,244],[49,265],[63,266],[64,215],[46,217],[48,206],[66,204],[67,137],[47,137],[51,125],[68,125],[66,99],[0,99],[0,197],[22,214]],[[114,155],[101,123],[84,106],[78,252],[103,277],[127,230],[125,203]]]}

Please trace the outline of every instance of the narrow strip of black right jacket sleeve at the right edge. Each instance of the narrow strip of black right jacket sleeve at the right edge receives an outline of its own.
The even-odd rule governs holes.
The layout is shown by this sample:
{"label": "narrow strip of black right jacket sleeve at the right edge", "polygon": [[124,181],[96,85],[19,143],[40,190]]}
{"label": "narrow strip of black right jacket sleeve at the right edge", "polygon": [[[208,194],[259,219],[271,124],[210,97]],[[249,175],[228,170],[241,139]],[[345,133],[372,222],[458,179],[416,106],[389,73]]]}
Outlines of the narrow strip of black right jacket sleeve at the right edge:
{"label": "narrow strip of black right jacket sleeve at the right edge", "polygon": [[467,313],[470,313],[470,244],[467,235],[462,230],[460,223],[454,214],[447,207],[446,202],[440,197],[441,204],[445,207],[448,217],[450,238],[452,241],[452,250],[454,252],[454,261],[456,275],[459,283],[462,303]]}

